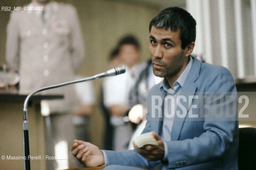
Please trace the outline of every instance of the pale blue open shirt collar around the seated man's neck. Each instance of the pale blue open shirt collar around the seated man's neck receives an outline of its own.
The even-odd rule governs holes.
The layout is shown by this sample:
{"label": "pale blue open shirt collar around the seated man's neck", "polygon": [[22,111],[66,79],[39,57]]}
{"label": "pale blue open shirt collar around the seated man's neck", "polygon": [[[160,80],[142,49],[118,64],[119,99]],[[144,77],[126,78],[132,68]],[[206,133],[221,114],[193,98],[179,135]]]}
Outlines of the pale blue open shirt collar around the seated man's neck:
{"label": "pale blue open shirt collar around the seated man's neck", "polygon": [[[174,83],[174,89],[176,90],[179,86],[182,88],[184,86],[187,75],[191,69],[193,58],[189,56],[190,60],[185,68],[185,70],[180,74],[179,78]],[[166,78],[161,82],[160,89],[163,88],[165,91],[168,91],[171,87],[169,86]]]}

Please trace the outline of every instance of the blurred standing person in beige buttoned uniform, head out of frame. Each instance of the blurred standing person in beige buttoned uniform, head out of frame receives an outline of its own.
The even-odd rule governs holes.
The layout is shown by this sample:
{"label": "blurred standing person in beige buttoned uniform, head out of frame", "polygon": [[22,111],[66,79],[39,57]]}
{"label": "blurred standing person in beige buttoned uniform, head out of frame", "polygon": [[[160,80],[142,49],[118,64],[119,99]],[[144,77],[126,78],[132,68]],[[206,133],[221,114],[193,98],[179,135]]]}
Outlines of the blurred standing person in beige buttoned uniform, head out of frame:
{"label": "blurred standing person in beige buttoned uniform, head out of frame", "polygon": [[[6,43],[6,62],[20,75],[20,93],[29,94],[41,87],[73,80],[84,58],[75,7],[50,0],[32,0],[22,10],[11,13]],[[72,161],[76,161],[71,154],[68,159],[68,146],[74,138],[72,114],[78,105],[74,86],[41,94],[64,95],[63,100],[47,103],[51,114],[46,117],[46,153],[65,160],[48,160],[47,169],[71,167]]]}

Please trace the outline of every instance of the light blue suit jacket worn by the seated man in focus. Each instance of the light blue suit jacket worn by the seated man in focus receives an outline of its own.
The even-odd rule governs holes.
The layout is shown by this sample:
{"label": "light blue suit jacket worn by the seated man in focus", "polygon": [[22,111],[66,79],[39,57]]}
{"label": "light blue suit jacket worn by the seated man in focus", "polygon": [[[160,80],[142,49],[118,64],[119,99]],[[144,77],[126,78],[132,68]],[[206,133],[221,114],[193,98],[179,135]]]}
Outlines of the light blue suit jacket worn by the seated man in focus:
{"label": "light blue suit jacket worn by the seated man in focus", "polygon": [[[161,133],[163,114],[152,114],[154,95],[162,99],[166,96],[160,84],[156,84],[148,94],[147,123],[142,133]],[[150,162],[136,150],[104,150],[108,165],[151,168],[161,162],[162,169],[238,169],[237,94],[230,72],[225,67],[202,63],[193,58],[181,95],[186,96],[186,100],[182,100],[186,102],[183,109],[177,108],[177,111],[185,109],[186,116],[175,115],[171,140],[165,141],[168,160]],[[188,97],[193,95],[208,98],[200,100]],[[199,118],[191,118],[191,115],[199,115]]]}

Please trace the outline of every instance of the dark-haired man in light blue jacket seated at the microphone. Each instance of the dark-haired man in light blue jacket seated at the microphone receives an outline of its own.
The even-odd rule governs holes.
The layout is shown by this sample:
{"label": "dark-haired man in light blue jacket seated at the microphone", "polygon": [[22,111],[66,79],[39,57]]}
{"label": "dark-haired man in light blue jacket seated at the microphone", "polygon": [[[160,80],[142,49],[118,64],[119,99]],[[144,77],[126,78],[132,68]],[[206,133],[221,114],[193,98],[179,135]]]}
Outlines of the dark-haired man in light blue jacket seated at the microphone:
{"label": "dark-haired man in light blue jacket seated at the microphone", "polygon": [[193,17],[169,7],[150,22],[154,74],[164,80],[148,94],[147,123],[158,145],[115,152],[75,140],[74,156],[85,166],[105,169],[237,169],[236,88],[225,68],[191,56],[195,46]]}

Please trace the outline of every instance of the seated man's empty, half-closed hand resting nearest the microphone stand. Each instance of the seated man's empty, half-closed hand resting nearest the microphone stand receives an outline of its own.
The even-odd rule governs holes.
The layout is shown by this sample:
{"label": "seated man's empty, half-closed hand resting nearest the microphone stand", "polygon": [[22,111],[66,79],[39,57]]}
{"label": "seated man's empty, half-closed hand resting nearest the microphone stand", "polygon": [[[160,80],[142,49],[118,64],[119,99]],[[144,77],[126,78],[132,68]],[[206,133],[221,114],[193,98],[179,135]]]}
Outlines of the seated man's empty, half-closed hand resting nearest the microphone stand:
{"label": "seated man's empty, half-closed hand resting nearest the microphone stand", "polygon": [[72,155],[79,162],[88,167],[94,167],[104,164],[104,155],[97,146],[89,142],[74,140],[71,146]]}

